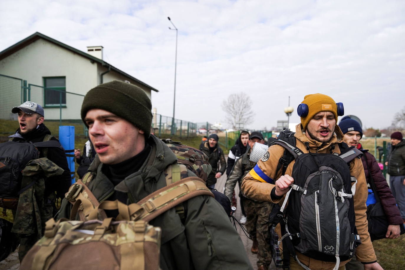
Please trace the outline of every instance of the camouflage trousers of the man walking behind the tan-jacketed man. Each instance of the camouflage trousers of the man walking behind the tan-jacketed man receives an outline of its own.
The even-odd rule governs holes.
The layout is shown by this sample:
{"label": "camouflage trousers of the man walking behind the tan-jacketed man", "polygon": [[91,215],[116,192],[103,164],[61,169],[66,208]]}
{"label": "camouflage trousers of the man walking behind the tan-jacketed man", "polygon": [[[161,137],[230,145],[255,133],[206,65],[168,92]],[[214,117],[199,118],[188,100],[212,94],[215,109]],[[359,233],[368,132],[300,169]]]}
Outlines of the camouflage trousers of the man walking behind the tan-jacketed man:
{"label": "camouflage trousers of the man walking behind the tan-jacketed man", "polygon": [[266,242],[269,234],[269,214],[273,208],[271,202],[254,202],[243,200],[246,212],[246,230],[252,236],[252,240],[258,242],[257,266],[265,268],[271,263],[271,247]]}

